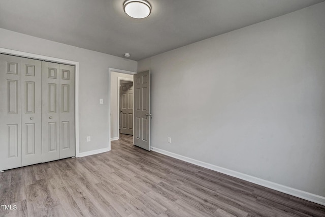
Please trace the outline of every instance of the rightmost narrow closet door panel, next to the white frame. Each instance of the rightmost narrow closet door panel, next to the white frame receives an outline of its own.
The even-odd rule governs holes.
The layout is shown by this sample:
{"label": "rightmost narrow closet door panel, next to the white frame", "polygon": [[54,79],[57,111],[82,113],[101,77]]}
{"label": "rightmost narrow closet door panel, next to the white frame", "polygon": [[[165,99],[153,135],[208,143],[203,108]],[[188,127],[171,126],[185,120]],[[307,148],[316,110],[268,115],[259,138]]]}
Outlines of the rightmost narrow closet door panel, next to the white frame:
{"label": "rightmost narrow closet door panel, next to the white frame", "polygon": [[75,156],[75,67],[59,65],[60,159]]}

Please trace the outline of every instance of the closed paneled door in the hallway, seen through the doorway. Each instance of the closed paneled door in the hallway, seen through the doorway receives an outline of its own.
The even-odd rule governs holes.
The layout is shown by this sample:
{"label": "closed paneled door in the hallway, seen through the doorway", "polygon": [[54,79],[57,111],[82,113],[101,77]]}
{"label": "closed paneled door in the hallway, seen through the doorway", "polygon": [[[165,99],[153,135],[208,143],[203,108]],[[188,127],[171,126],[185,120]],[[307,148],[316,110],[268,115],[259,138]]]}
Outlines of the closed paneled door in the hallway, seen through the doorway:
{"label": "closed paneled door in the hallway, seen through the doorway", "polygon": [[121,84],[120,118],[121,134],[133,135],[133,82]]}

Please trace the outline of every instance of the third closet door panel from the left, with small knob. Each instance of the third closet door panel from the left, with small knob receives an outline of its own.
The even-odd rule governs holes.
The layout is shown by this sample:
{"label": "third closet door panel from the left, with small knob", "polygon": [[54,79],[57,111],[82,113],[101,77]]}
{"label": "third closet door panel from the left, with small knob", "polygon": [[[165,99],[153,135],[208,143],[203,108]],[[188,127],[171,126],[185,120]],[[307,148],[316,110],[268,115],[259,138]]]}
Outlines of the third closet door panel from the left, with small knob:
{"label": "third closet door panel from the left, with small knob", "polygon": [[42,61],[42,162],[58,159],[59,64]]}

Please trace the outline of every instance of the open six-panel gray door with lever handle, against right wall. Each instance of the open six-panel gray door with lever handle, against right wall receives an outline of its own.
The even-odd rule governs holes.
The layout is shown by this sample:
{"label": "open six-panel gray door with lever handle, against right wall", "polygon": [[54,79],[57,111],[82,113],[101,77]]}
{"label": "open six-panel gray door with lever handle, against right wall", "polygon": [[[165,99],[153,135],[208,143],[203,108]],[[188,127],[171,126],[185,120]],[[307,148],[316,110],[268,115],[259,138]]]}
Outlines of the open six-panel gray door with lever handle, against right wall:
{"label": "open six-panel gray door with lever handle, against right wall", "polygon": [[150,71],[134,75],[134,144],[150,151]]}

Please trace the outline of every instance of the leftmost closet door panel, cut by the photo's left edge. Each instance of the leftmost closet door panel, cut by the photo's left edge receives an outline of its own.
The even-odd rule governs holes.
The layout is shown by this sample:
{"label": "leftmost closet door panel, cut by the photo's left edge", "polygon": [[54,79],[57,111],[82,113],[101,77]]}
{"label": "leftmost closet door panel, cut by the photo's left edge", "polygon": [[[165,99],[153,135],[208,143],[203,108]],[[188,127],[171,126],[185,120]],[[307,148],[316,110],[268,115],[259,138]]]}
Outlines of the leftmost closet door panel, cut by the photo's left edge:
{"label": "leftmost closet door panel, cut by the photo's left edge", "polygon": [[21,58],[0,54],[0,170],[21,167]]}

